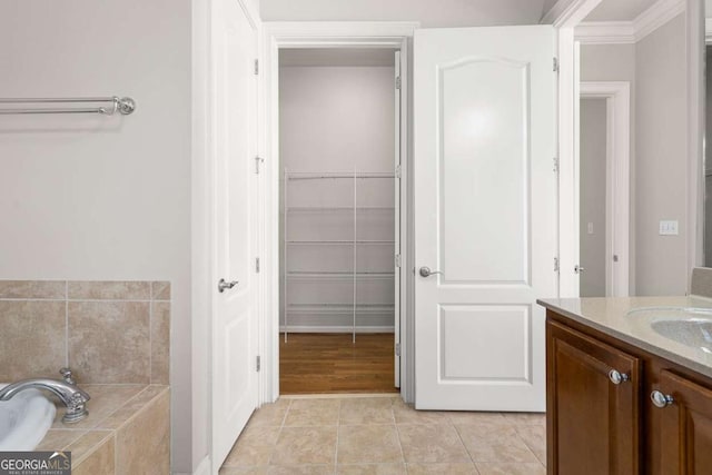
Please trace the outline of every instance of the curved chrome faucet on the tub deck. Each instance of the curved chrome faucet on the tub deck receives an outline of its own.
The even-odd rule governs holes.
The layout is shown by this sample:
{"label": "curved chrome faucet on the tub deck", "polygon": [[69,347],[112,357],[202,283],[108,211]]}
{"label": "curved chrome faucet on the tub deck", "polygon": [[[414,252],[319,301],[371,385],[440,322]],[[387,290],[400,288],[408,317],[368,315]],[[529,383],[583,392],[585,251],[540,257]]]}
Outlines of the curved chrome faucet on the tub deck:
{"label": "curved chrome faucet on the tub deck", "polygon": [[32,378],[22,379],[6,386],[0,389],[0,400],[9,400],[16,394],[24,389],[47,389],[57,395],[65,406],[67,406],[62,422],[77,423],[89,415],[86,404],[87,400],[91,399],[91,397],[76,386],[76,382],[71,377],[71,370],[69,370],[69,368],[61,368],[59,373],[62,375],[65,380]]}

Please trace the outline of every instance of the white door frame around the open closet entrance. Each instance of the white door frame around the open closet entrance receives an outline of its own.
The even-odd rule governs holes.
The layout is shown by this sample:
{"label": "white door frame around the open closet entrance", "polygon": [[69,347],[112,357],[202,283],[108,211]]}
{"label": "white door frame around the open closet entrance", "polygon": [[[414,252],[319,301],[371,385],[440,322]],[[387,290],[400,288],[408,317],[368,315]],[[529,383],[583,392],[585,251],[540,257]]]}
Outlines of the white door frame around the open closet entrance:
{"label": "white door frame around the open closet entrance", "polygon": [[[264,22],[261,38],[261,97],[260,150],[264,166],[263,236],[265,266],[261,274],[264,294],[260,326],[264,373],[260,380],[259,403],[279,397],[279,49],[281,48],[394,48],[402,51],[402,76],[411,78],[408,49],[418,22]],[[412,208],[408,206],[408,139],[409,80],[400,88],[400,249],[402,269],[412,263],[408,243]],[[400,273],[400,393],[406,400],[413,397],[413,325],[411,320],[412,274]],[[411,280],[411,283],[408,283]]]}

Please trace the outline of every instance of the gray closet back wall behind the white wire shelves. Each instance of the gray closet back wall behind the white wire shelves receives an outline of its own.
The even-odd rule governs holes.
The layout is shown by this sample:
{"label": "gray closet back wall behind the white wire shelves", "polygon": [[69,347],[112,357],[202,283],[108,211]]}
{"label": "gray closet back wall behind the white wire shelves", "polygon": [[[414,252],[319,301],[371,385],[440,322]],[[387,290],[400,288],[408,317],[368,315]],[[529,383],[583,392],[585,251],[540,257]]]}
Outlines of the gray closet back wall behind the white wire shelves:
{"label": "gray closet back wall behind the white wire shelves", "polygon": [[[290,171],[393,172],[395,150],[395,82],[393,67],[281,67],[279,69],[279,148],[281,166]],[[393,180],[358,180],[359,206],[393,206]],[[353,180],[289,181],[289,206],[353,205]],[[284,192],[284,191],[283,191]],[[283,209],[284,212],[284,209]],[[289,239],[350,239],[350,211],[291,212]],[[284,222],[284,219],[280,220]],[[339,229],[332,226],[337,222]],[[394,214],[359,214],[360,239],[393,239]],[[284,229],[281,230],[284,239]],[[283,250],[284,251],[284,250]],[[289,270],[350,271],[350,246],[289,246]],[[357,269],[393,270],[393,246],[359,246]],[[280,260],[285,263],[283,258]],[[284,266],[280,269],[284,276]],[[290,279],[284,304],[353,301],[349,279]],[[392,304],[393,279],[359,279],[357,301]],[[290,327],[339,327],[350,331],[353,316],[309,308],[289,315]],[[393,310],[357,311],[358,327],[392,330]]]}

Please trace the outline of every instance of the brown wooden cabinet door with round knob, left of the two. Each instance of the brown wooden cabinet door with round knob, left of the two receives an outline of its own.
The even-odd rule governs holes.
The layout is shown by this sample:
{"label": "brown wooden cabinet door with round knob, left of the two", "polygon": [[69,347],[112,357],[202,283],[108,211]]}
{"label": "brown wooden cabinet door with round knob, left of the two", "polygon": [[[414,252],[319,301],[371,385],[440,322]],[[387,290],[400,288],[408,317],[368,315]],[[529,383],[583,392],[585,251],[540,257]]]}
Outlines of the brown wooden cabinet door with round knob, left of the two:
{"label": "brown wooden cabinet door with round knob, left of the two", "polygon": [[[614,384],[611,370],[627,380]],[[547,321],[548,473],[640,473],[640,388],[637,358]]]}

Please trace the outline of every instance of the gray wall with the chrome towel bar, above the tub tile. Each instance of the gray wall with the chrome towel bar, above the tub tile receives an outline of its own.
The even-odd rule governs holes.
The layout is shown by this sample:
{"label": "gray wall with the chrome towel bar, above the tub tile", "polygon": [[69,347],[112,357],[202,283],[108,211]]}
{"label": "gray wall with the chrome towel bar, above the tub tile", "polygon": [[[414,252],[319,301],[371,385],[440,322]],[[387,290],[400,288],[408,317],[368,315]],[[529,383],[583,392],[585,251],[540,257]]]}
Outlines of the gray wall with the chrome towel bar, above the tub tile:
{"label": "gray wall with the chrome towel bar, above the tub tile", "polygon": [[0,117],[0,278],[172,283],[180,472],[192,472],[190,17],[188,0],[0,3],[3,97],[138,103],[125,118]]}

